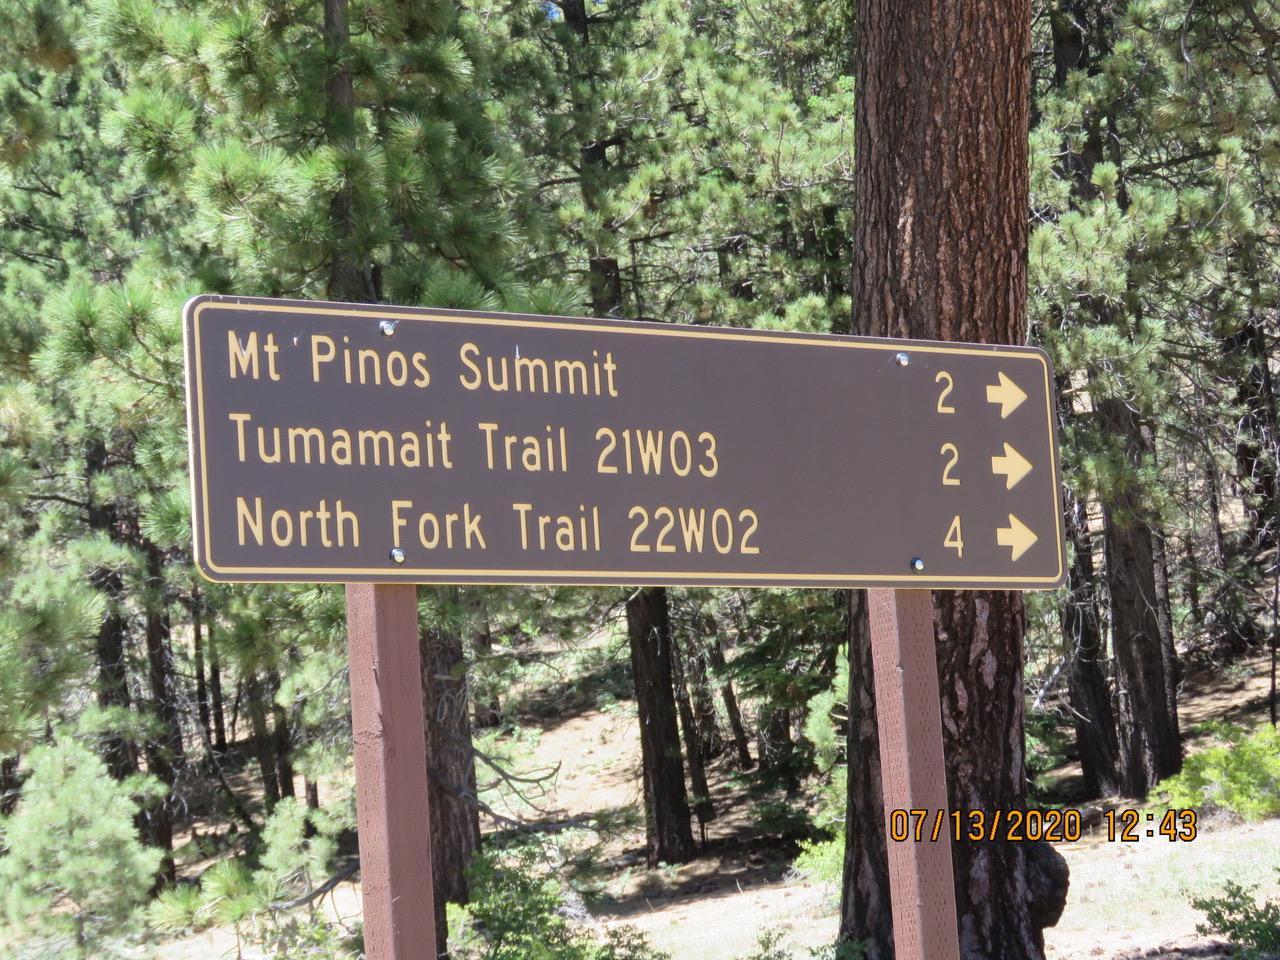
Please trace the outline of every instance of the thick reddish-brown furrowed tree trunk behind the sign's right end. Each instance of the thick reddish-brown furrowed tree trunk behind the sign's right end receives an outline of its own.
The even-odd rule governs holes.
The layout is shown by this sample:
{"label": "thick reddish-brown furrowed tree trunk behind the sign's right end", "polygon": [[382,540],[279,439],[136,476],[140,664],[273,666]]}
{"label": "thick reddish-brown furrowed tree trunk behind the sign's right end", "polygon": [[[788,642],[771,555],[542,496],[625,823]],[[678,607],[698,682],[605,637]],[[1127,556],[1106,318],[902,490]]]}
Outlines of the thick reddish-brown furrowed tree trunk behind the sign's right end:
{"label": "thick reddish-brown furrowed tree trunk behind the sign's right end", "polygon": [[[1029,56],[1028,0],[859,3],[855,332],[1024,340]],[[1021,598],[947,593],[934,609],[951,806],[1024,806]],[[869,631],[851,627],[850,641],[854,663],[868,663]],[[851,777],[873,755],[869,707],[850,724]],[[879,803],[850,790],[850,882],[883,876],[867,865],[883,856]],[[1065,902],[1061,856],[961,842],[954,863],[961,956],[1041,960],[1042,929]],[[844,896],[842,934],[883,960],[886,911],[859,915],[858,897]]]}

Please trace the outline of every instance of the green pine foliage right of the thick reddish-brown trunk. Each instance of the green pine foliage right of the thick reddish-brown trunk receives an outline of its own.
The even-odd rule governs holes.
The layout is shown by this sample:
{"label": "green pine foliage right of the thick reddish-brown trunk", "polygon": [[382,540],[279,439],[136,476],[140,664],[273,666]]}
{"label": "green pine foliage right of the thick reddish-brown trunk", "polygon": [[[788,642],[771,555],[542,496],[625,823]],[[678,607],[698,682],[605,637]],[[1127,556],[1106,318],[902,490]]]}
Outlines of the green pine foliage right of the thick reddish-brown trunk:
{"label": "green pine foliage right of the thick reddish-brown trunk", "polygon": [[[1251,40],[1276,14],[1253,23],[1234,8],[1051,5],[1038,40],[1050,46],[1053,18],[1078,17],[1091,61],[1061,77],[1046,64],[1032,132],[1030,320],[1078,398],[1062,435],[1070,485],[1105,504],[1139,492],[1137,520],[1187,544],[1192,643],[1256,640],[1248,623],[1275,568],[1251,552],[1257,540],[1213,538],[1220,477],[1245,468],[1235,451],[1251,443],[1247,398],[1228,384],[1257,358],[1231,338],[1276,303],[1280,90],[1274,51]],[[1106,399],[1155,438],[1140,462],[1089,416]],[[1262,445],[1274,465],[1274,436]],[[1216,613],[1207,623],[1201,602]]]}

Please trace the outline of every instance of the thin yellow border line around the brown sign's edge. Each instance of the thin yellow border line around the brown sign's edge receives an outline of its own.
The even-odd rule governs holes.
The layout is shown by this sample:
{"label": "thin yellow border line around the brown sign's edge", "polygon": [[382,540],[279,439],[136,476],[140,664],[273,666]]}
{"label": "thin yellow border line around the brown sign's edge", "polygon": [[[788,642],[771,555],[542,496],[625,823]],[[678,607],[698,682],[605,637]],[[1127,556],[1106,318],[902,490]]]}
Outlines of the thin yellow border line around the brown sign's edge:
{"label": "thin yellow border line around the brown sign's edge", "polygon": [[[955,589],[964,589],[964,584],[973,585],[992,585],[997,586],[1000,584],[1037,584],[1043,585],[1042,589],[1053,589],[1064,582],[1064,541],[1062,541],[1062,524],[1061,518],[1059,522],[1053,524],[1055,532],[1055,545],[1057,556],[1057,573],[1051,577],[1028,577],[1028,576],[922,576],[919,580],[914,580],[902,573],[874,573],[865,576],[851,576],[847,573],[705,573],[696,571],[586,571],[586,570],[447,570],[442,567],[396,567],[394,570],[388,570],[385,567],[223,567],[214,562],[212,558],[212,544],[210,541],[210,522],[209,522],[209,468],[206,458],[206,440],[205,440],[205,390],[204,390],[204,367],[200,356],[200,319],[201,314],[206,310],[252,310],[253,312],[287,312],[287,314],[311,314],[315,316],[364,316],[371,320],[419,320],[424,323],[442,323],[442,324],[470,324],[480,326],[513,326],[522,329],[557,329],[557,330],[581,330],[582,333],[623,333],[634,334],[640,337],[686,337],[694,339],[728,339],[728,340],[742,340],[742,342],[765,342],[776,346],[780,344],[794,344],[799,347],[836,347],[844,349],[872,349],[872,351],[893,351],[897,352],[904,348],[904,344],[895,342],[892,339],[886,340],[867,340],[855,338],[844,338],[835,335],[823,334],[797,334],[797,333],[783,333],[783,332],[760,332],[760,330],[742,330],[736,328],[723,328],[723,326],[708,326],[708,328],[690,328],[684,325],[672,324],[669,328],[664,328],[660,324],[640,324],[635,321],[590,321],[589,319],[579,317],[563,317],[563,319],[547,319],[547,320],[534,320],[521,316],[518,314],[488,314],[476,312],[466,314],[460,311],[458,314],[436,314],[428,307],[402,307],[401,310],[385,310],[376,306],[362,306],[362,305],[335,305],[326,301],[312,302],[291,302],[280,303],[278,301],[262,301],[252,297],[224,297],[214,298],[212,294],[200,294],[192,297],[187,301],[183,307],[183,356],[192,356],[195,358],[193,364],[187,365],[187,397],[188,397],[188,452],[191,462],[196,462],[197,457],[197,438],[198,438],[198,461],[200,461],[200,486],[196,485],[196,472],[191,471],[191,502],[192,512],[195,513],[196,504],[200,504],[200,524],[197,530],[192,536],[192,553],[196,561],[196,568],[209,580],[206,570],[214,573],[224,573],[236,577],[252,576],[255,573],[261,575],[283,575],[291,577],[306,577],[306,576],[320,576],[324,577],[323,581],[315,582],[343,582],[346,576],[387,576],[394,573],[394,576],[385,582],[406,582],[411,577],[424,577],[417,580],[422,584],[451,584],[457,582],[458,577],[466,577],[468,584],[479,585],[494,585],[494,586],[511,586],[513,585],[511,580],[495,580],[486,581],[484,577],[511,577],[517,581],[527,581],[530,585],[556,585],[556,586],[602,586],[603,584],[591,582],[591,579],[617,579],[618,581],[627,584],[646,584],[646,585],[673,585],[682,584],[684,581],[692,580],[705,580],[714,581],[713,585],[732,582],[736,585],[750,585],[759,584],[765,585],[778,585],[788,586],[797,582],[812,582],[812,581],[824,581],[827,584],[838,584],[842,586],[858,586],[858,585],[874,585],[874,584],[901,584],[904,586],[911,586],[918,584],[920,589],[929,589],[934,584],[956,584]],[[568,323],[566,323],[568,321]],[[1057,443],[1056,443],[1056,430],[1053,428],[1053,406],[1052,406],[1052,374],[1050,369],[1048,355],[1037,347],[1021,347],[1015,349],[1004,348],[1001,346],[992,346],[989,348],[975,349],[973,347],[952,347],[943,342],[933,342],[936,346],[922,346],[918,340],[910,342],[909,349],[916,353],[942,353],[948,356],[980,356],[980,357],[1009,357],[1011,360],[1038,360],[1044,374],[1044,396],[1050,398],[1047,404],[1047,420],[1048,420],[1048,436],[1050,436],[1050,458],[1052,461],[1051,470],[1053,474],[1055,483],[1059,480],[1059,461],[1057,461]],[[195,408],[191,408],[189,398],[192,396],[192,378],[195,378]],[[198,430],[196,430],[198,420]],[[201,543],[204,538],[205,543]],[[584,577],[581,581],[573,580],[575,577]],[[221,582],[221,581],[214,581]],[[253,582],[243,581],[242,582]],[[279,582],[271,581],[259,581],[259,582]],[[294,582],[306,582],[305,580]],[[376,582],[376,581],[375,581]],[[696,586],[696,584],[690,584]],[[943,588],[945,589],[945,588]],[[1019,589],[1019,588],[1010,588]],[[1024,588],[1025,589],[1025,588]]]}

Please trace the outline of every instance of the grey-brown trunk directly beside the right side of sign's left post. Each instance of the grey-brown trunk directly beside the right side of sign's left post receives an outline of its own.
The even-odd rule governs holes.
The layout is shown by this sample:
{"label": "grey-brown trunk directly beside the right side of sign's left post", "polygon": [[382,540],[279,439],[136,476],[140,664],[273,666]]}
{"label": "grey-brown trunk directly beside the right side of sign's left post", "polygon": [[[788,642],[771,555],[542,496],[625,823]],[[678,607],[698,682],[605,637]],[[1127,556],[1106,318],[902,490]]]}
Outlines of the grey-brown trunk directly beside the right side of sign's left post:
{"label": "grey-brown trunk directly beside the right side of sign's left post", "polygon": [[[457,589],[444,589],[447,599],[457,603]],[[476,762],[462,637],[424,623],[419,648],[422,658],[428,794],[431,799],[435,936],[439,955],[445,956],[445,904],[466,904],[470,899],[466,870],[480,849]]]}

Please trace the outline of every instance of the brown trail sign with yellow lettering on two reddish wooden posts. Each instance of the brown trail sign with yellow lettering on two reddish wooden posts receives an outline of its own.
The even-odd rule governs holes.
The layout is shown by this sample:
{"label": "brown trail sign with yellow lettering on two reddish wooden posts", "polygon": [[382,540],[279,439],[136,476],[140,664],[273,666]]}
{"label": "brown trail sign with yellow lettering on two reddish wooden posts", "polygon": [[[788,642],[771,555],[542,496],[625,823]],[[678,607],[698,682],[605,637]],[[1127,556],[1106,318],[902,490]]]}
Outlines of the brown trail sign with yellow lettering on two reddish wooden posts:
{"label": "brown trail sign with yellow lettering on two reddish wooden posts", "polygon": [[[1064,580],[1037,349],[228,297],[184,337],[200,570],[352,585],[374,960],[434,955],[415,595],[388,584],[908,588],[873,591],[890,810],[946,805],[927,590]],[[946,840],[891,860],[900,960],[954,956]]]}

